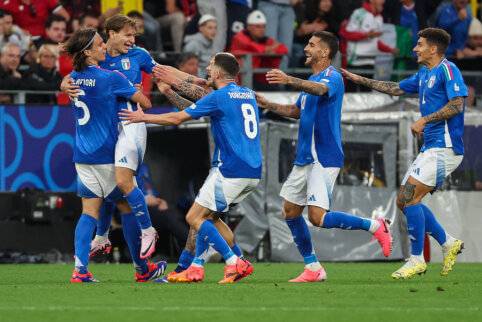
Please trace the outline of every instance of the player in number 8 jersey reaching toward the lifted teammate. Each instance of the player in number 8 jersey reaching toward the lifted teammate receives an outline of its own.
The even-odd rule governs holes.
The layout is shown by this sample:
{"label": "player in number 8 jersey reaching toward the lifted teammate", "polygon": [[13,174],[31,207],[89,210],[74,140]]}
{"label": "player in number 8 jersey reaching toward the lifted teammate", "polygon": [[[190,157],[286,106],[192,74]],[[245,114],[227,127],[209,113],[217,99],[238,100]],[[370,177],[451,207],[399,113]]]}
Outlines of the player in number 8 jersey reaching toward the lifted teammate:
{"label": "player in number 8 jersey reaching toward the lifted teammate", "polygon": [[168,277],[170,282],[201,282],[210,244],[226,261],[224,278],[220,283],[239,281],[253,269],[233,252],[213,220],[219,213],[228,211],[232,204],[246,198],[261,178],[262,157],[255,95],[253,91],[236,85],[239,63],[232,54],[216,54],[206,70],[208,86],[215,90],[181,112],[148,115],[138,109],[120,113],[121,119],[133,123],[161,125],[177,125],[201,116],[211,117],[211,131],[216,143],[212,168],[186,215],[189,225],[197,231],[196,254],[188,269]]}

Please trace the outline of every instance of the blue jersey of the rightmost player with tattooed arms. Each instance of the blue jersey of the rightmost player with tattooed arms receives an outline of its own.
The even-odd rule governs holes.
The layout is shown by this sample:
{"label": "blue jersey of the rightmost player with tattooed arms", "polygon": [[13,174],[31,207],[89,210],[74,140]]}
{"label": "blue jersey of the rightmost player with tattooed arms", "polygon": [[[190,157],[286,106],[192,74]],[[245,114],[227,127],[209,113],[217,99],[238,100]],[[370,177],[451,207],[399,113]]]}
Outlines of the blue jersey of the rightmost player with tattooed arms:
{"label": "blue jersey of the rightmost player with tattooed arms", "polygon": [[[421,68],[398,86],[406,94],[419,94],[422,117],[437,112],[454,97],[467,96],[467,87],[460,70],[446,58],[431,70],[427,67]],[[464,154],[464,112],[465,101],[462,113],[445,121],[427,123],[423,130],[424,144],[421,151],[453,147],[457,154]]]}

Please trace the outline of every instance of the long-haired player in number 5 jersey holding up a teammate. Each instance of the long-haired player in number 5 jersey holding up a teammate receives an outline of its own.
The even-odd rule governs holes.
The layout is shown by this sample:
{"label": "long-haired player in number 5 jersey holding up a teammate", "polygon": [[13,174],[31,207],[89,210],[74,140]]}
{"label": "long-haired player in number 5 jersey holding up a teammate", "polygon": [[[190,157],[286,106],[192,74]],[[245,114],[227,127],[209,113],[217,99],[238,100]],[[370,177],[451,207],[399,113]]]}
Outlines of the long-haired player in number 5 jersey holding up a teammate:
{"label": "long-haired player in number 5 jersey holding up a teammate", "polygon": [[[131,99],[139,108],[151,107],[147,99],[122,74],[101,69],[106,45],[92,29],[76,32],[62,46],[74,59],[73,83],[78,97],[72,101],[76,119],[74,162],[78,174],[77,192],[82,197],[82,216],[75,229],[75,270],[72,283],[98,282],[88,272],[90,239],[96,228],[104,198],[117,202],[121,213],[132,210],[116,189],[114,151],[119,135],[119,105]],[[146,267],[145,278],[155,279],[166,263]]]}

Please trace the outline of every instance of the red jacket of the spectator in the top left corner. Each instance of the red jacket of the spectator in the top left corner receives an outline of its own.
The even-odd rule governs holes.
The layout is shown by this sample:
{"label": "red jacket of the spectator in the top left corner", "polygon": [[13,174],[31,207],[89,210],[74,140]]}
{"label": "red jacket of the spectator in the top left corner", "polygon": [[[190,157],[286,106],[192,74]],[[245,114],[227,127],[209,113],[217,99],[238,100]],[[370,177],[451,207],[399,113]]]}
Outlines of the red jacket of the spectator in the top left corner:
{"label": "red jacket of the spectator in the top left corner", "polygon": [[70,16],[57,0],[3,0],[0,9],[12,13],[13,20],[20,28],[28,31],[33,37],[44,34],[44,26],[51,14],[65,18]]}

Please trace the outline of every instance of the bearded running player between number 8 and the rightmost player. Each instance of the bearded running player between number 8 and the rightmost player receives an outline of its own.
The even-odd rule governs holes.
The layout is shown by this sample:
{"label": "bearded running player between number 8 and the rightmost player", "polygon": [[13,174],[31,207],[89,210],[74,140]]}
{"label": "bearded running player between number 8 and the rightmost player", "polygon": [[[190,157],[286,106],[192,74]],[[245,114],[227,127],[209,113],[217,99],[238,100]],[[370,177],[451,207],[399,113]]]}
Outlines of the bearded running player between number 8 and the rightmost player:
{"label": "bearded running player between number 8 and the rightmost player", "polygon": [[257,95],[259,107],[300,119],[295,165],[280,192],[285,199],[283,216],[305,261],[304,272],[290,282],[326,279],[302,216],[305,206],[314,226],[366,230],[378,239],[386,257],[391,251],[390,225],[386,219],[370,220],[330,211],[333,187],[343,167],[340,123],[345,89],[340,73],[331,66],[337,51],[338,39],[333,34],[314,32],[305,47],[305,65],[313,70],[308,80],[287,76],[280,70],[266,74],[270,84],[288,84],[302,90],[296,104],[281,105]]}

